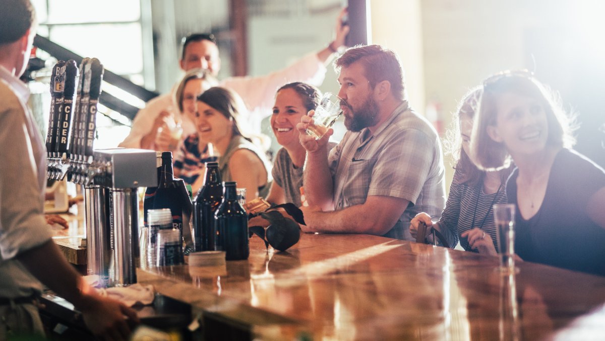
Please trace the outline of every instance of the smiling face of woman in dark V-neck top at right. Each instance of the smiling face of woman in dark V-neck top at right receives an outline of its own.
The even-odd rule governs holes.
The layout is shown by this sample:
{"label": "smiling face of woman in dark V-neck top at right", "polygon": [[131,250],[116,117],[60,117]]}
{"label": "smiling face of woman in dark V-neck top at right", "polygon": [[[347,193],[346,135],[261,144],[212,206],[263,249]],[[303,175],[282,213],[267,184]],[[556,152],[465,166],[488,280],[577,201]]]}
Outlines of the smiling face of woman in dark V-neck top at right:
{"label": "smiling face of woman in dark V-neck top at right", "polygon": [[495,126],[488,135],[502,142],[511,155],[532,155],[546,148],[548,120],[543,105],[535,98],[504,92],[495,98]]}

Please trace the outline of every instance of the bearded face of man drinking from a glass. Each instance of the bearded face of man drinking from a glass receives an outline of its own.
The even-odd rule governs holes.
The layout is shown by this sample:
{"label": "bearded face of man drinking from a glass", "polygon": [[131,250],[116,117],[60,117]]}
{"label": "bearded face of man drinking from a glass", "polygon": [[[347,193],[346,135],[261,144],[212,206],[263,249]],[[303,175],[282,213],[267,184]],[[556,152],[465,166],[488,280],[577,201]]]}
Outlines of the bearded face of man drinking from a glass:
{"label": "bearded face of man drinking from a glass", "polygon": [[338,97],[345,102],[341,105],[345,127],[359,132],[365,127],[375,126],[378,123],[379,108],[373,97],[374,89],[368,78],[365,78],[364,66],[361,63],[343,66],[338,83]]}

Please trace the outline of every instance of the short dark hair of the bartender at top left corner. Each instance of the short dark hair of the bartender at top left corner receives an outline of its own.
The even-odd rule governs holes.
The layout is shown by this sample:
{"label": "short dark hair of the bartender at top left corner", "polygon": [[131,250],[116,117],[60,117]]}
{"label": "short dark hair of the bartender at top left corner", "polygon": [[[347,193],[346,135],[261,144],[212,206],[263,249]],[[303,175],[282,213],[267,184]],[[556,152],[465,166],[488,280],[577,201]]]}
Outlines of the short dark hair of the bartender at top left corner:
{"label": "short dark hair of the bartender at top left corner", "polygon": [[0,44],[13,43],[36,22],[36,11],[29,0],[3,0],[0,11]]}

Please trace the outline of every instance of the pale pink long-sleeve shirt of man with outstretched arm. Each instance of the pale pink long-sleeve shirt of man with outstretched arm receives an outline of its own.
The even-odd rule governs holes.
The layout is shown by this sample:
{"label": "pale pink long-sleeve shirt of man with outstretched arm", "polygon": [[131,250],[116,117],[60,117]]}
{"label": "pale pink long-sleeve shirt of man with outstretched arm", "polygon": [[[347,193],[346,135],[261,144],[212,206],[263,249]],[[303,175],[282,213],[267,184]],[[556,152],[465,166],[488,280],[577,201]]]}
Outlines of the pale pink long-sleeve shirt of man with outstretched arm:
{"label": "pale pink long-sleeve shirt of man with outstretched arm", "polygon": [[[237,92],[249,112],[244,117],[246,131],[251,133],[261,132],[261,121],[271,115],[275,91],[286,83],[292,81],[304,81],[319,86],[325,78],[325,66],[316,53],[307,54],[290,66],[279,71],[271,72],[258,77],[229,77],[220,82],[220,86]],[[176,88],[176,86],[173,88]],[[177,120],[182,121],[183,136],[195,133],[195,125],[186,115],[178,113],[178,106],[174,103],[173,92],[163,94],[150,100],[145,108],[139,110],[132,121],[130,134],[120,143],[120,147],[140,148],[143,136],[151,132],[155,118],[168,107],[173,107]]]}

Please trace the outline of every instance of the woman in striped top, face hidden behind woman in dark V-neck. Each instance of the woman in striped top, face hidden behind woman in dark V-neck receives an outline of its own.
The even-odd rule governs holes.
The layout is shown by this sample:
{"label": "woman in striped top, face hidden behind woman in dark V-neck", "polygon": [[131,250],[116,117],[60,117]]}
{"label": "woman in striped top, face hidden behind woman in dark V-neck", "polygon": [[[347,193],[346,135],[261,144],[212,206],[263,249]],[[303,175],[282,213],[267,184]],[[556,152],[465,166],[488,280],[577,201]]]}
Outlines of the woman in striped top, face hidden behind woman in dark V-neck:
{"label": "woman in striped top, face hidden behind woman in dark V-neck", "polygon": [[448,132],[445,145],[456,162],[456,171],[440,220],[434,222],[430,215],[419,213],[410,221],[410,233],[416,238],[418,225],[424,222],[427,234],[433,227],[443,235],[449,247],[455,247],[460,241],[465,250],[495,255],[497,244],[492,206],[507,202],[504,183],[510,169],[481,171],[468,157],[473,118],[480,96],[479,87],[468,92],[454,115],[454,129]]}

